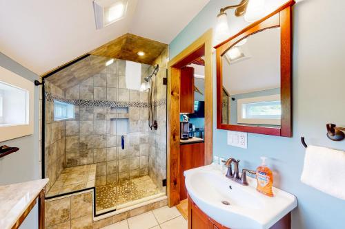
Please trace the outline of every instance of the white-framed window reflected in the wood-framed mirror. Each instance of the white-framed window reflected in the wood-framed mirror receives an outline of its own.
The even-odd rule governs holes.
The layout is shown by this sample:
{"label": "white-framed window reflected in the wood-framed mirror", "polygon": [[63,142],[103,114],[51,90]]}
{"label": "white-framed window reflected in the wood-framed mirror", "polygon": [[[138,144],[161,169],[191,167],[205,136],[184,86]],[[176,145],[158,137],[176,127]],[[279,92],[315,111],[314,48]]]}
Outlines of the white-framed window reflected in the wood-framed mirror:
{"label": "white-framed window reflected in the wood-framed mirror", "polygon": [[237,100],[238,123],[280,125],[282,105],[279,95]]}

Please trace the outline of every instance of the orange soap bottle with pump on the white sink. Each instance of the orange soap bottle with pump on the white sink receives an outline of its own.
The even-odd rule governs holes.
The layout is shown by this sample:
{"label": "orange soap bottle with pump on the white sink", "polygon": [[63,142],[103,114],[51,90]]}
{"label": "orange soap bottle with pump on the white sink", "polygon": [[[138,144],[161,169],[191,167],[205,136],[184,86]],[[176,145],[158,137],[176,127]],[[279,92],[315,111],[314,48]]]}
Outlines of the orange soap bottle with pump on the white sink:
{"label": "orange soap bottle with pump on the white sink", "polygon": [[265,164],[266,157],[260,157],[262,160],[261,166],[257,167],[257,191],[273,197],[273,173]]}

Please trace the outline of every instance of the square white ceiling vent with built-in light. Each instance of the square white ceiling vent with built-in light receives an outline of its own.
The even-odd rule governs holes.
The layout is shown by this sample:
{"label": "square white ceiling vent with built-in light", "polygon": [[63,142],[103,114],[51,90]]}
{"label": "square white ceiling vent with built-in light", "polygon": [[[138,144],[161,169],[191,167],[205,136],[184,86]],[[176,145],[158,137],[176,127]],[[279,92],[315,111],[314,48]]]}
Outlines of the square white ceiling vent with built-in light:
{"label": "square white ceiling vent with built-in light", "polygon": [[127,6],[128,0],[93,1],[97,30],[123,19],[126,16]]}

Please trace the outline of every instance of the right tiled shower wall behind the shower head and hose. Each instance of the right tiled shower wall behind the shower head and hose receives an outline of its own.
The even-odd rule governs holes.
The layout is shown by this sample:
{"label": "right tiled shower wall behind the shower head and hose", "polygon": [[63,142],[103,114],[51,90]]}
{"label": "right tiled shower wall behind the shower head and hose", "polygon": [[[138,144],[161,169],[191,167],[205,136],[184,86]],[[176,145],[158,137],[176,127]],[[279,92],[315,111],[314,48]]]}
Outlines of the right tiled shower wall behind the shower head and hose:
{"label": "right tiled shower wall behind the shower head and hose", "polygon": [[[153,78],[153,80],[157,80],[155,117],[158,129],[150,130],[148,175],[161,189],[161,192],[166,192],[166,187],[162,185],[162,180],[166,179],[166,85],[163,84],[163,78],[167,77],[168,48],[155,60],[155,64],[159,65],[157,78]],[[154,81],[154,83],[156,82]]]}

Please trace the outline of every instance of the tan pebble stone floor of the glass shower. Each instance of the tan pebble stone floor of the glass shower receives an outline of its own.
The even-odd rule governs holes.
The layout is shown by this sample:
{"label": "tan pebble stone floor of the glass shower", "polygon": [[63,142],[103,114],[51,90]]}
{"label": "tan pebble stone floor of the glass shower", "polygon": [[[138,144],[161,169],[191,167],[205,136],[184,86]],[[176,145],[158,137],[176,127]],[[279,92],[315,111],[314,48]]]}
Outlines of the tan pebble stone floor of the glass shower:
{"label": "tan pebble stone floor of the glass shower", "polygon": [[152,179],[146,175],[96,187],[96,210],[114,208],[144,197],[161,193]]}

